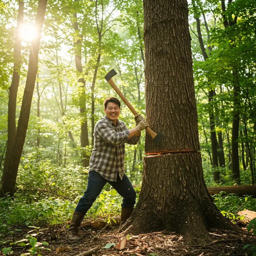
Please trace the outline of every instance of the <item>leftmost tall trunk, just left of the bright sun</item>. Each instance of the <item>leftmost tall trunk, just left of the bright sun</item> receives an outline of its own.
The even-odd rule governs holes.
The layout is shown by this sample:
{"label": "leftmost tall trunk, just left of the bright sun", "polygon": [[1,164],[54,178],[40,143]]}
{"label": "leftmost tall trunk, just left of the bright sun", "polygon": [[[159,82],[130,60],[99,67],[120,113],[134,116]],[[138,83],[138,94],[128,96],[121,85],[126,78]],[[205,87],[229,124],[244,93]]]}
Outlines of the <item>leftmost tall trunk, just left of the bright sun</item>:
{"label": "leftmost tall trunk, just left of the bright sun", "polygon": [[19,1],[19,9],[17,16],[17,28],[15,31],[15,43],[14,43],[14,66],[13,66],[13,77],[12,83],[9,87],[9,100],[8,100],[8,119],[7,119],[7,146],[4,160],[4,171],[2,175],[2,182],[6,169],[9,163],[10,154],[12,152],[15,134],[16,134],[16,99],[19,87],[19,71],[22,65],[21,63],[21,36],[20,29],[23,23],[24,15],[24,2]]}

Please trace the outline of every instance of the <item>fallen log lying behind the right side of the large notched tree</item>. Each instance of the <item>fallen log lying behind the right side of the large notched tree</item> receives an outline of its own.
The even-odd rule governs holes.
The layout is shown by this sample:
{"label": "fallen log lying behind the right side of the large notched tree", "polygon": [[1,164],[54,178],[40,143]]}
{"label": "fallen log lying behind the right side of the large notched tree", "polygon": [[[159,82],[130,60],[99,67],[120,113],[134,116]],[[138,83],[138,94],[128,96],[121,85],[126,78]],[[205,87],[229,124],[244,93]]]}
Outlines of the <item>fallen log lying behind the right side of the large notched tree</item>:
{"label": "fallen log lying behind the right side of the large notched tree", "polygon": [[237,194],[238,196],[256,196],[256,185],[243,186],[226,186],[226,187],[207,187],[210,195],[219,194],[220,191],[225,191],[227,194]]}

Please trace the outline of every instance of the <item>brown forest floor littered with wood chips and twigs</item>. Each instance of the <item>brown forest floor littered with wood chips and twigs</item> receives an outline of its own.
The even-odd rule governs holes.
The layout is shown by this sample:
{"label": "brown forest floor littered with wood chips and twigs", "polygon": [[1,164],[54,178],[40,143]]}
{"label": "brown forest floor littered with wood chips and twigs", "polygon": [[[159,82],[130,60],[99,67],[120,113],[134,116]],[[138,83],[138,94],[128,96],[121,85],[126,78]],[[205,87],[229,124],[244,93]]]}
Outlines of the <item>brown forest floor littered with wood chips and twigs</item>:
{"label": "brown forest floor littered with wood chips and twigs", "polygon": [[[168,255],[198,255],[198,256],[237,256],[237,255],[255,255],[253,254],[252,247],[256,244],[256,238],[252,233],[247,233],[244,229],[243,234],[236,232],[211,230],[212,233],[212,243],[206,244],[204,246],[197,244],[187,244],[185,243],[185,238],[174,233],[168,233],[166,231],[151,232],[147,234],[139,234],[138,236],[124,236],[118,233],[118,229],[110,228],[106,226],[103,229],[97,228],[82,228],[81,235],[82,240],[76,242],[69,242],[66,239],[67,224],[57,224],[52,226],[40,226],[41,230],[37,235],[38,242],[49,243],[46,248],[51,249],[51,251],[42,250],[38,252],[40,255],[49,256],[70,256],[78,255],[80,253],[86,252],[94,247],[100,245],[100,250],[97,251],[95,256],[112,256],[112,255],[136,255],[136,256],[168,256]],[[17,228],[17,227],[16,227]],[[14,227],[15,229],[15,227]],[[14,234],[7,234],[4,237],[6,243],[15,242],[24,239],[25,235],[29,230],[15,231]],[[33,233],[30,231],[30,234]],[[118,250],[116,246],[121,240],[126,239],[125,247]],[[113,246],[110,249],[103,249],[106,244],[115,243],[115,248]],[[247,248],[244,249],[244,247]],[[110,245],[110,244],[109,244]],[[27,253],[27,247],[12,244],[13,253],[12,255],[19,256],[21,253]],[[1,254],[1,253],[0,253]],[[3,254],[2,254],[3,255]]]}

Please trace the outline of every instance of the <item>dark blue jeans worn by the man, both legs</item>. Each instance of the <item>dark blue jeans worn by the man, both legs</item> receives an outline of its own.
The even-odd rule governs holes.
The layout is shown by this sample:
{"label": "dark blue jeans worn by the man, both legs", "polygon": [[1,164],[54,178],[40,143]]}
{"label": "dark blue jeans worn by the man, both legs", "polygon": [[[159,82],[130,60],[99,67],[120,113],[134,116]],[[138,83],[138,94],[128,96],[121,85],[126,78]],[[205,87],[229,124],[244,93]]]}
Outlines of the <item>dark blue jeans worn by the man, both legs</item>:
{"label": "dark blue jeans worn by the man, both legs", "polygon": [[135,205],[136,191],[125,174],[121,180],[117,173],[116,181],[110,181],[99,173],[90,171],[86,191],[80,198],[75,211],[86,214],[107,182],[123,197],[122,207],[130,208]]}

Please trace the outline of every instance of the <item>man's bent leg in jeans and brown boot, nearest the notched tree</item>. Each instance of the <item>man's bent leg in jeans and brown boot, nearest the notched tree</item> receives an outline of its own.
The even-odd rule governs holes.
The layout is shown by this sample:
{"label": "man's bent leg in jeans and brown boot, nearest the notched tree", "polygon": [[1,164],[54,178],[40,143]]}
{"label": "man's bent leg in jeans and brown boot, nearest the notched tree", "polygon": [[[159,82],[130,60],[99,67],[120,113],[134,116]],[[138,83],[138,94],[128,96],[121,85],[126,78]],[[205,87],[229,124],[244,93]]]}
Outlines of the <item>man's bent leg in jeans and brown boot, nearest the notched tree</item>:
{"label": "man's bent leg in jeans and brown boot, nearest the notched tree", "polygon": [[136,202],[136,191],[134,190],[129,178],[124,174],[121,180],[119,174],[116,181],[108,181],[108,183],[123,197],[121,210],[121,225],[131,216],[133,206]]}

